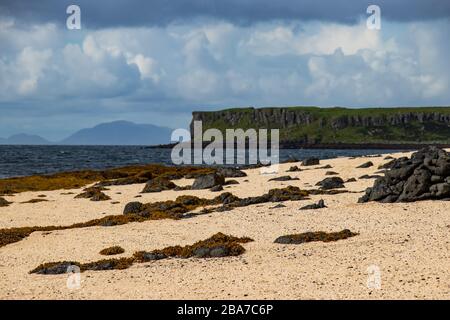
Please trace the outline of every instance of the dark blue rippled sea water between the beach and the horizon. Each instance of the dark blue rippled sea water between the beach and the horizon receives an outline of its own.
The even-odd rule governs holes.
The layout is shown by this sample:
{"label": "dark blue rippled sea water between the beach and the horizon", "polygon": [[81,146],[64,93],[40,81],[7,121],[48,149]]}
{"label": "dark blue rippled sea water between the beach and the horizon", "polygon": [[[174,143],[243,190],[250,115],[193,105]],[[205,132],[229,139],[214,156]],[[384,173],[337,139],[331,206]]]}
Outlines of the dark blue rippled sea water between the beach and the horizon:
{"label": "dark blue rippled sea water between the beach and the horizon", "polygon": [[[286,149],[280,160],[382,154],[394,150]],[[171,149],[144,146],[3,146],[0,145],[0,178],[48,174],[79,169],[106,169],[125,165],[171,165]]]}

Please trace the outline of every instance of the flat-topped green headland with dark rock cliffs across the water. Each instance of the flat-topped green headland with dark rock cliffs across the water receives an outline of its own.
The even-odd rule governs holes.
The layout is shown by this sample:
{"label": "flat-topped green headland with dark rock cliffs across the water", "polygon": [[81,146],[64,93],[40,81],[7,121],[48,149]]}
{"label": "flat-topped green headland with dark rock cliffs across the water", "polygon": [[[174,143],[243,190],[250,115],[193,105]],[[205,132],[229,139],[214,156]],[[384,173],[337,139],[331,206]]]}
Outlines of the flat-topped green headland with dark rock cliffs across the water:
{"label": "flat-topped green headland with dark rock cliffs across the water", "polygon": [[238,108],[193,112],[203,131],[280,129],[282,148],[394,148],[450,145],[450,107]]}

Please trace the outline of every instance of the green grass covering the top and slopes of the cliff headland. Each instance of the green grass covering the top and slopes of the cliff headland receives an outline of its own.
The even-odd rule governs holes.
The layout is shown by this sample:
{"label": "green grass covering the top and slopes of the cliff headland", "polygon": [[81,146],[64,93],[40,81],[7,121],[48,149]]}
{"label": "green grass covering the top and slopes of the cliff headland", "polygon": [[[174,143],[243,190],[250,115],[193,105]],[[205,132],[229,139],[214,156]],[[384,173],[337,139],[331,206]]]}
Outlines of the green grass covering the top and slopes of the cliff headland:
{"label": "green grass covering the top and slopes of the cliff headland", "polygon": [[[301,111],[312,116],[313,121],[308,125],[295,125],[280,127],[275,122],[258,123],[253,118],[255,111],[278,112]],[[439,121],[428,121],[419,123],[411,121],[408,124],[396,126],[354,126],[334,129],[330,125],[332,120],[340,117],[358,116],[368,118],[383,118],[396,114],[409,113],[441,113],[450,114],[450,107],[400,107],[400,108],[361,108],[348,109],[341,107],[319,108],[319,107],[282,107],[282,108],[233,108],[220,111],[201,112],[203,130],[217,128],[222,132],[226,128],[267,128],[280,129],[280,140],[282,142],[303,143],[394,143],[394,144],[416,144],[416,143],[450,143],[450,127]],[[236,114],[237,122],[230,124],[223,115]],[[222,115],[222,116],[221,116]],[[270,131],[268,132],[270,136]]]}

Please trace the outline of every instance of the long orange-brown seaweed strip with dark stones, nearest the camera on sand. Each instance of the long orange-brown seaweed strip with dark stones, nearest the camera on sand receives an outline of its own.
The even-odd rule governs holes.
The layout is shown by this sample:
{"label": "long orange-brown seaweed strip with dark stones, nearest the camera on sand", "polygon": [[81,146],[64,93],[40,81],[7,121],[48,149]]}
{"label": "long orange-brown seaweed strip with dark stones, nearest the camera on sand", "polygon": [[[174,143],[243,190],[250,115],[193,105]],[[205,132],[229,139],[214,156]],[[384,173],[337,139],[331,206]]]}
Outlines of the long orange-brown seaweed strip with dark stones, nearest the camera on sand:
{"label": "long orange-brown seaweed strip with dark stones, nearest the camera on sand", "polygon": [[151,252],[138,251],[129,258],[104,259],[95,262],[79,263],[74,261],[44,263],[31,270],[36,274],[64,274],[71,266],[77,266],[81,272],[102,270],[123,270],[131,267],[133,263],[142,263],[152,260],[160,260],[168,257],[176,258],[218,258],[227,256],[238,256],[245,252],[241,243],[253,241],[250,238],[237,238],[223,233],[217,233],[212,237],[198,241],[193,245],[184,247],[173,246]]}

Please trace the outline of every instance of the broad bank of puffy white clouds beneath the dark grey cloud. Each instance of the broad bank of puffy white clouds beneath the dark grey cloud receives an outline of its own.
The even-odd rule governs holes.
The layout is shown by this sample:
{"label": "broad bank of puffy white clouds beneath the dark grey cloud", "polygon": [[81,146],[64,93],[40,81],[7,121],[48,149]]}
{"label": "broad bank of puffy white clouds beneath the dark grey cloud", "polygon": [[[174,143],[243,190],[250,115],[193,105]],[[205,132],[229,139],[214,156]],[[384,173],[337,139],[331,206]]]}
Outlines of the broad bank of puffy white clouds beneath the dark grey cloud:
{"label": "broad bank of puffy white clouds beneath the dark grey cloud", "polygon": [[209,106],[450,100],[448,21],[386,22],[381,31],[323,22],[79,32],[3,20],[0,26],[2,110],[34,104],[42,114],[95,111],[126,118]]}

